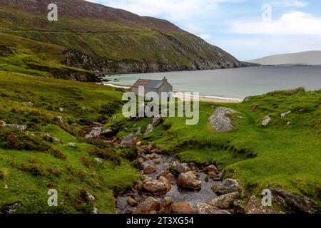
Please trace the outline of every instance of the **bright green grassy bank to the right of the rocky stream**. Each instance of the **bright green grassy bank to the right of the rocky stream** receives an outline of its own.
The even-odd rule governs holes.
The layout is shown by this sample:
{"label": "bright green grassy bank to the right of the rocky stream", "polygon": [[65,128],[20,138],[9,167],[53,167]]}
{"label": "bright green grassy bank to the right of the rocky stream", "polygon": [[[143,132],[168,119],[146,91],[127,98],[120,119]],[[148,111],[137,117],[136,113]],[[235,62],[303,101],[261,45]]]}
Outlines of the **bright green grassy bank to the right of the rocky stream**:
{"label": "bright green grassy bank to the right of the rocky stream", "polygon": [[[215,163],[225,168],[226,177],[242,182],[249,194],[280,186],[307,195],[320,203],[321,192],[321,92],[275,92],[254,97],[248,103],[217,104],[238,111],[233,115],[236,130],[215,133],[208,118],[215,110],[212,103],[200,104],[200,123],[185,125],[183,118],[167,118],[145,138],[154,140],[162,150],[186,162]],[[258,108],[251,110],[252,105]],[[291,110],[284,119],[280,113]],[[267,128],[260,124],[272,116]],[[124,125],[136,130],[151,120]],[[290,121],[290,124],[287,123]],[[136,127],[134,127],[136,126]]]}

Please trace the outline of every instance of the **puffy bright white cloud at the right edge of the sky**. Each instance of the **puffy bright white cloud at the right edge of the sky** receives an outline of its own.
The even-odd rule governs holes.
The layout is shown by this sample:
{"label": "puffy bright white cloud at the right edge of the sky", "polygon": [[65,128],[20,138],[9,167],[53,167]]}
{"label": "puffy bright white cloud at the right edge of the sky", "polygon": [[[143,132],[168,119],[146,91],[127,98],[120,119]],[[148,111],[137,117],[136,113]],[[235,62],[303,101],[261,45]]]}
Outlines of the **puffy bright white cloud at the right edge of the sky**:
{"label": "puffy bright white cloud at the right edge of the sky", "polygon": [[239,34],[321,36],[321,17],[295,11],[277,21],[235,21],[230,31]]}

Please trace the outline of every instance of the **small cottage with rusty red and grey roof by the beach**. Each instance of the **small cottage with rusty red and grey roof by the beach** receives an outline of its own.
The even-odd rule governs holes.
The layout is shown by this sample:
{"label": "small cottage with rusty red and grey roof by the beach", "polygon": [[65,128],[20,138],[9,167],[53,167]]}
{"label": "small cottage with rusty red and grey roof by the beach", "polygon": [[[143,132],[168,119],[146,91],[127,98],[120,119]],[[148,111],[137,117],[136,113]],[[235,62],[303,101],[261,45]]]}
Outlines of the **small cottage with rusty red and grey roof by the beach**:
{"label": "small cottage with rusty red and grey roof by the beach", "polygon": [[[144,95],[149,92],[158,93],[161,98],[161,93],[173,93],[173,86],[168,83],[167,78],[163,78],[163,80],[148,80],[148,79],[138,79],[136,83],[131,87],[131,91],[138,95],[138,88],[144,88]],[[173,99],[173,94],[170,94],[166,100],[170,101]]]}

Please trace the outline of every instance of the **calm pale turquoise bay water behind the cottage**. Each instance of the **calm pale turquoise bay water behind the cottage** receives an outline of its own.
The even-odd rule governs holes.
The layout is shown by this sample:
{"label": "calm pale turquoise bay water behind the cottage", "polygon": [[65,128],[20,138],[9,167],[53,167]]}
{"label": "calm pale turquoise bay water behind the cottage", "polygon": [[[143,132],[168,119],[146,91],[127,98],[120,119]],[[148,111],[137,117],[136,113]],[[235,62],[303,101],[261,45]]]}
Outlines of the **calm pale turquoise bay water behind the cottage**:
{"label": "calm pale turquoise bay water behind the cottage", "polygon": [[201,95],[224,98],[242,99],[248,95],[300,86],[307,90],[321,89],[321,66],[263,66],[213,71],[139,73],[106,76],[106,79],[111,80],[111,84],[132,86],[138,78],[159,80],[163,77],[168,78],[175,91],[200,92]]}

